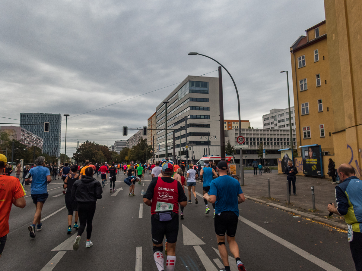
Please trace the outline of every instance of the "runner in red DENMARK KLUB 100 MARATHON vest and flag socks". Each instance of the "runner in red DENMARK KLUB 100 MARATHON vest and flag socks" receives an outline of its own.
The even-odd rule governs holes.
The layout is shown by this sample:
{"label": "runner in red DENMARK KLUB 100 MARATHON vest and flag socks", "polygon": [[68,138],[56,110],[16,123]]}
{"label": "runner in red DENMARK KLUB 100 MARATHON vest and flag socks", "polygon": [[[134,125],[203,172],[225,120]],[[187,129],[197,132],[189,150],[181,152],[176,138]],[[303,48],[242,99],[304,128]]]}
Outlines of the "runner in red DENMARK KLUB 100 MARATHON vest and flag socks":
{"label": "runner in red DENMARK KLUB 100 MARATHON vest and flag socks", "polygon": [[[176,263],[176,242],[178,235],[178,203],[185,207],[187,198],[181,183],[172,179],[173,165],[164,163],[163,177],[152,178],[143,196],[143,202],[151,206],[151,233],[153,243],[153,257],[157,269],[164,270],[163,238],[167,239],[166,270],[173,271]],[[167,193],[168,198],[163,198]],[[163,202],[157,199],[163,198]],[[163,211],[164,207],[168,210]],[[161,211],[162,210],[162,211]]]}

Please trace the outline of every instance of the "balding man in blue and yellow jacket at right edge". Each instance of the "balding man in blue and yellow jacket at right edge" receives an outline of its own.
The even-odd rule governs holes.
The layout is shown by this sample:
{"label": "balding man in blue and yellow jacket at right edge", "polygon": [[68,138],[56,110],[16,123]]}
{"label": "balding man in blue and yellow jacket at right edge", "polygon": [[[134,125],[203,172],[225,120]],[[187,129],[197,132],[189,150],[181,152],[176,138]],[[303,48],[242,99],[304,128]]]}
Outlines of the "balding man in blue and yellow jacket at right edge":
{"label": "balding man in blue and yellow jacket at right edge", "polygon": [[362,181],[355,176],[352,165],[341,164],[337,169],[341,183],[336,186],[336,202],[327,209],[343,215],[348,226],[349,248],[357,271],[362,271]]}

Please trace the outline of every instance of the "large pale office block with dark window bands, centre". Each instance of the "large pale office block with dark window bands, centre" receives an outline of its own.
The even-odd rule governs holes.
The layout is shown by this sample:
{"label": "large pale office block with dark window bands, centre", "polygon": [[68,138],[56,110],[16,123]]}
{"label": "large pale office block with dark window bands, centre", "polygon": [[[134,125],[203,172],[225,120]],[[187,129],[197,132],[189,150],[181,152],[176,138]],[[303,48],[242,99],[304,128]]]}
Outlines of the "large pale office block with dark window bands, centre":
{"label": "large pale office block with dark window bands, centre", "polygon": [[[209,143],[210,152],[215,153],[220,145],[219,122],[219,79],[215,77],[188,76],[164,101],[167,104],[167,149],[168,158],[173,155],[173,132],[175,131],[175,151],[181,155],[186,145],[185,122],[187,121],[187,140],[194,144],[194,155],[201,157]],[[165,103],[156,107],[156,128],[165,128]],[[181,130],[177,130],[181,127]],[[176,130],[175,130],[176,129]],[[165,129],[155,133],[155,158],[165,157]],[[216,136],[216,139],[215,139]]]}

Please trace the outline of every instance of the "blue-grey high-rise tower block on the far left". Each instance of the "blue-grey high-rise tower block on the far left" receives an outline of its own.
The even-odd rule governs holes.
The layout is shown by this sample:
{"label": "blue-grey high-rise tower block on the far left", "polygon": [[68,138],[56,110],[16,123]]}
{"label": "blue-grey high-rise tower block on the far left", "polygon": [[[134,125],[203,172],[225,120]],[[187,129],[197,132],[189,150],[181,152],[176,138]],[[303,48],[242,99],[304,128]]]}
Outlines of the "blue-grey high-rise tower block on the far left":
{"label": "blue-grey high-rise tower block on the far left", "polygon": [[[44,122],[49,122],[49,132],[44,131]],[[20,113],[20,126],[43,138],[43,153],[60,157],[62,116],[49,113]]]}

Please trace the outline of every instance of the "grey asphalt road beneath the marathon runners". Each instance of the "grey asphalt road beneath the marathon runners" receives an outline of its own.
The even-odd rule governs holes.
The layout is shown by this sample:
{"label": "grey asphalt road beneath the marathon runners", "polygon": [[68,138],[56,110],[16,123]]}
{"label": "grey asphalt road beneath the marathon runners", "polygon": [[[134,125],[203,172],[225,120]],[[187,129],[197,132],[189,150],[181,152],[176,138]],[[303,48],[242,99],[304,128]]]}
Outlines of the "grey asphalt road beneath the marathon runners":
{"label": "grey asphalt road beneath the marathon runners", "polygon": [[[146,192],[151,176],[146,173],[145,181],[136,184],[135,197],[128,196],[129,186],[123,182],[124,177],[121,173],[116,182],[116,189],[123,190],[112,196],[115,192],[109,193],[107,182],[103,197],[97,202],[91,248],[85,248],[84,232],[79,250],[72,250],[76,231],[73,229],[71,235],[67,234],[68,212],[62,180],[52,181],[48,186],[49,198],[42,211],[42,219],[46,219],[35,238],[30,238],[28,231],[35,212],[31,197],[26,197],[24,209],[13,206],[0,270],[156,271],[150,207],[144,205],[142,199],[142,190]],[[30,187],[26,186],[25,190],[26,196],[30,196]],[[197,184],[196,190],[202,194],[201,185]],[[205,215],[205,205],[199,195],[198,205],[193,196],[191,199],[192,204],[184,210],[185,219],[180,220],[175,270],[223,270],[212,211]],[[248,271],[355,270],[346,233],[256,202],[247,200],[239,206],[236,241]],[[231,270],[235,271],[235,260],[230,263]]]}

